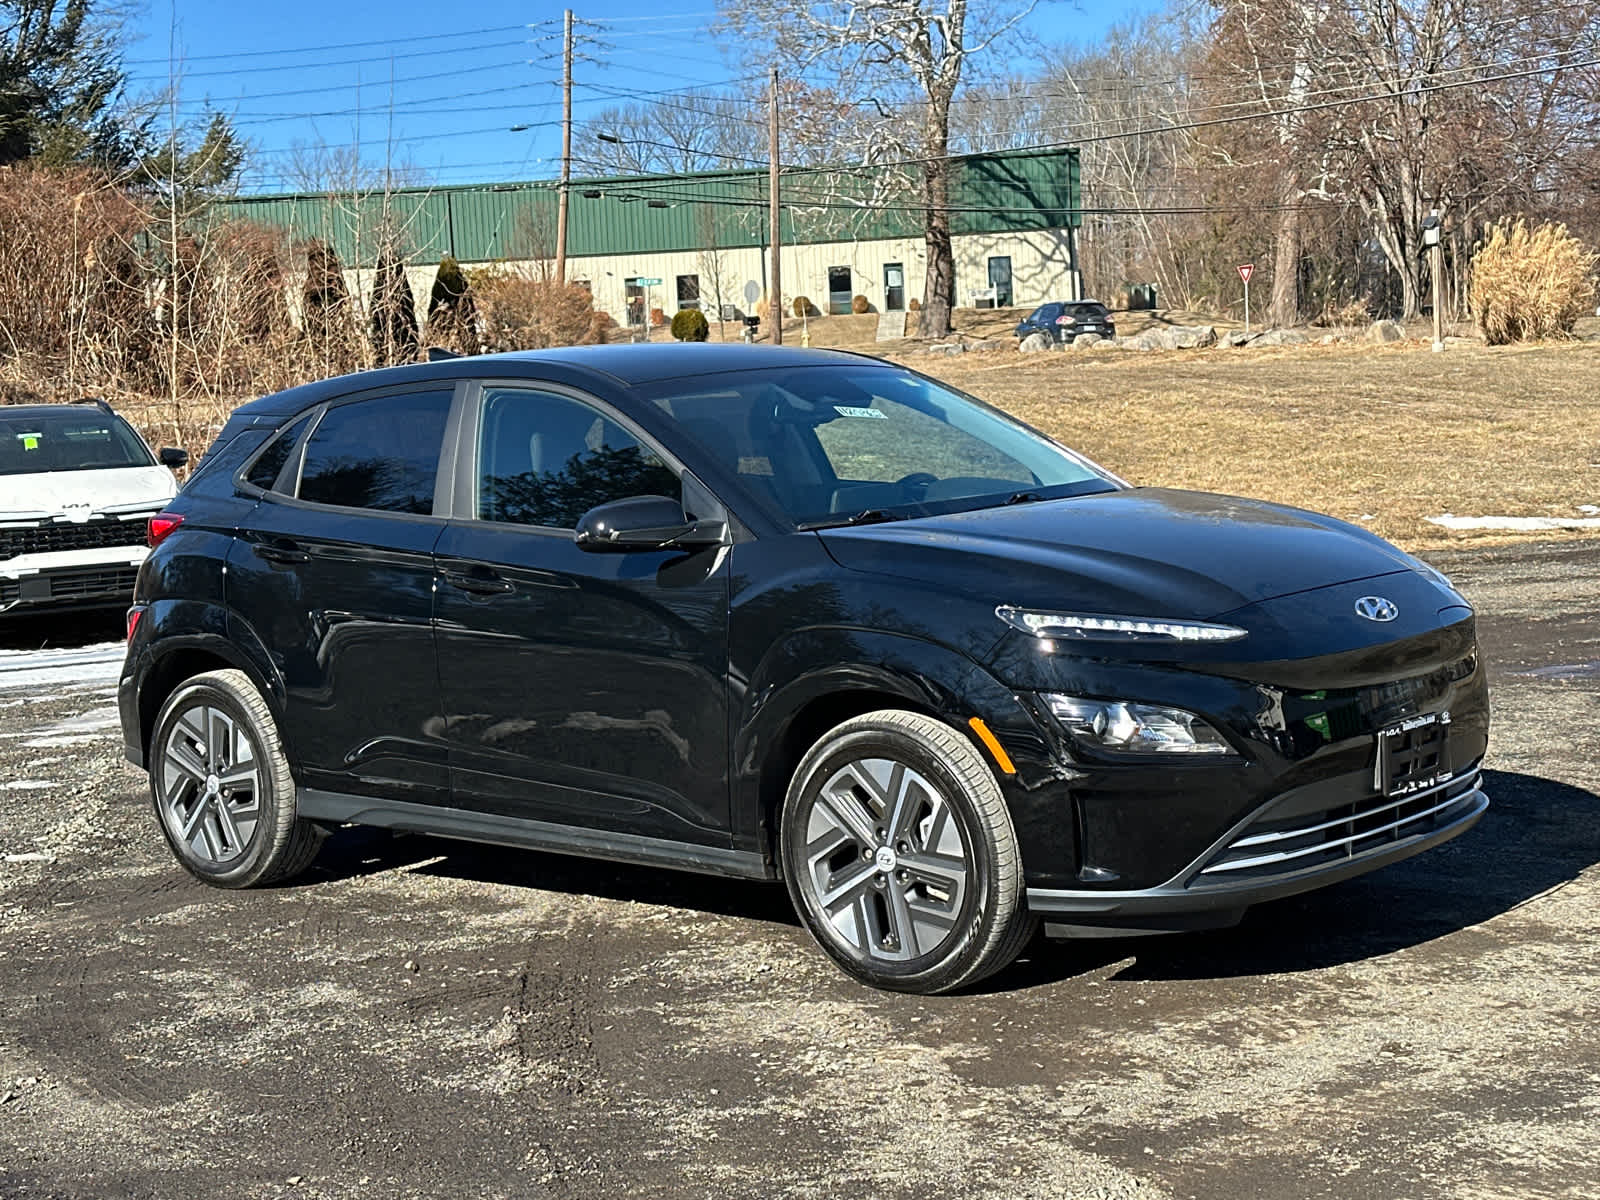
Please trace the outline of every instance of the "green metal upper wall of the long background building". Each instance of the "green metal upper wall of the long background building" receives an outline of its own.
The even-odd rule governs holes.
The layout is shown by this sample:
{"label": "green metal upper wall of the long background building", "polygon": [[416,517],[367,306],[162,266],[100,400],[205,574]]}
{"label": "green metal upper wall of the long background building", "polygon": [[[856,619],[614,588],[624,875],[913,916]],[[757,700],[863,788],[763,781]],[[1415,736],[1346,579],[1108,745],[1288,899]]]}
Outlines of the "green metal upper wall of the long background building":
{"label": "green metal upper wall of the long background building", "polygon": [[[922,166],[795,170],[781,179],[790,245],[920,237]],[[1077,150],[1005,150],[954,160],[950,230],[1000,234],[1082,224]],[[246,197],[224,219],[331,242],[347,266],[371,266],[387,227],[413,261],[453,253],[464,262],[549,258],[557,189],[550,181],[405,189],[387,197]],[[760,246],[766,242],[766,171],[574,179],[568,254],[650,254]]]}

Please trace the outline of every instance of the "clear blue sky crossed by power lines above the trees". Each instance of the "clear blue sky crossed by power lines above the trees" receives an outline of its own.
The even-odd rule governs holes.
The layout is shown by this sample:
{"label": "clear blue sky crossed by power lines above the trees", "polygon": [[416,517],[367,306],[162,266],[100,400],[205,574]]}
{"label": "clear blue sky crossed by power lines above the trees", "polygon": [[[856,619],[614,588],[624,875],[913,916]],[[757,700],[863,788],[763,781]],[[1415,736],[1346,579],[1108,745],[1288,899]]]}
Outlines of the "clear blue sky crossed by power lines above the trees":
{"label": "clear blue sky crossed by power lines above the trees", "polygon": [[[136,88],[163,86],[176,43],[181,112],[195,115],[210,102],[235,120],[256,146],[251,190],[286,190],[293,147],[318,142],[358,144],[366,162],[411,165],[435,182],[542,179],[560,157],[562,8],[549,0],[149,0],[130,22],[136,42],[126,67]],[[1157,0],[1043,0],[1030,24],[1088,42],[1154,8]],[[574,13],[584,56],[574,70],[578,120],[638,90],[760,86],[749,77],[765,62],[741,59],[706,34],[715,0],[678,8],[608,0],[592,14]],[[528,128],[514,133],[514,125]]]}

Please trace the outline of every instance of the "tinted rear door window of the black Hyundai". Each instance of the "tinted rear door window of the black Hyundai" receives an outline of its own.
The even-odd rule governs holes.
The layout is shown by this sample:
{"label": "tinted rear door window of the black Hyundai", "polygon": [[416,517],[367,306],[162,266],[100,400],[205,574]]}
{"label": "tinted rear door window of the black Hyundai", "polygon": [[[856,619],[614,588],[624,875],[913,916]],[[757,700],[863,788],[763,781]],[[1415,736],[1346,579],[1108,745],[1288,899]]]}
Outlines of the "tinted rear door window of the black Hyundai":
{"label": "tinted rear door window of the black Hyundai", "polygon": [[306,443],[299,498],[430,514],[450,398],[450,392],[403,392],[330,408]]}

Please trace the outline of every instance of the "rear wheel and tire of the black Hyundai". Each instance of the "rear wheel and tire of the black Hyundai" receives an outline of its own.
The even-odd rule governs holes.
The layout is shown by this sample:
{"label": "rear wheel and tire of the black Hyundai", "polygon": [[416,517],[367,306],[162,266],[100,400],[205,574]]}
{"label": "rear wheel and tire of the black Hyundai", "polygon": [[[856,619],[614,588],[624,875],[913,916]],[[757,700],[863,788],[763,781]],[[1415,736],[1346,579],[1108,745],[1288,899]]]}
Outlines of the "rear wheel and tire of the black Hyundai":
{"label": "rear wheel and tire of the black Hyundai", "polygon": [[325,830],[298,816],[272,710],[242,670],[184,680],[150,734],[150,803],[173,856],[216,888],[302,872]]}

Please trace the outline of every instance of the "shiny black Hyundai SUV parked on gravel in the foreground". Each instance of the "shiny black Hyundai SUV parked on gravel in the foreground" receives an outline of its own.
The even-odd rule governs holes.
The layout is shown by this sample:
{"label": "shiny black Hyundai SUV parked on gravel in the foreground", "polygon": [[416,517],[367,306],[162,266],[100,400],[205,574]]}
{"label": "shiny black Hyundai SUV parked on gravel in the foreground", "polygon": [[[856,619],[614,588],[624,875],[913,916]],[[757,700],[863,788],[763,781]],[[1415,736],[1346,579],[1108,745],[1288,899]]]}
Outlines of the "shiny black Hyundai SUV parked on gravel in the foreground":
{"label": "shiny black Hyundai SUV parked on gravel in the foreground", "polygon": [[[179,862],[362,822],[781,877],[936,992],[1237,922],[1488,803],[1474,616],[1328,517],[1133,488],[866,357],[614,346],[240,408],[128,613]],[[1306,931],[1315,938],[1315,930]]]}

